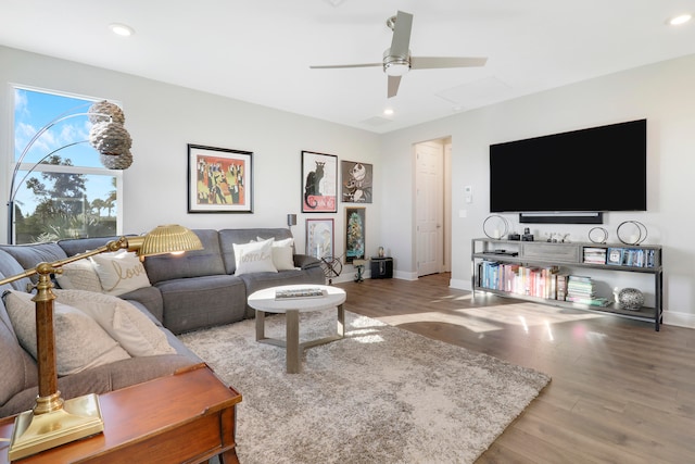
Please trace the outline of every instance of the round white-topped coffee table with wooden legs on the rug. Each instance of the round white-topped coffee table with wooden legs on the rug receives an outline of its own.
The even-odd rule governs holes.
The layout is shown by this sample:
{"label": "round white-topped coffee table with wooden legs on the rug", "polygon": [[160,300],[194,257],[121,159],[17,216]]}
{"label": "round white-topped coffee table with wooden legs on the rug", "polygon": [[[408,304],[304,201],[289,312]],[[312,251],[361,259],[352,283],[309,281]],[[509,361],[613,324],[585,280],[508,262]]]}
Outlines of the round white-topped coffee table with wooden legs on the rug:
{"label": "round white-topped coffee table with wooden legs on the rug", "polygon": [[[316,290],[320,296],[298,296],[289,298],[278,297],[279,292],[303,292]],[[311,293],[311,292],[309,292]],[[338,287],[327,285],[286,285],[281,287],[270,287],[253,292],[249,297],[249,305],[256,310],[256,341],[275,344],[286,349],[287,372],[295,374],[300,372],[300,355],[305,349],[318,344],[328,343],[343,338],[345,335],[345,291]],[[300,313],[311,311],[338,310],[337,334],[300,343]],[[265,336],[265,313],[286,314],[286,339],[279,340]]]}

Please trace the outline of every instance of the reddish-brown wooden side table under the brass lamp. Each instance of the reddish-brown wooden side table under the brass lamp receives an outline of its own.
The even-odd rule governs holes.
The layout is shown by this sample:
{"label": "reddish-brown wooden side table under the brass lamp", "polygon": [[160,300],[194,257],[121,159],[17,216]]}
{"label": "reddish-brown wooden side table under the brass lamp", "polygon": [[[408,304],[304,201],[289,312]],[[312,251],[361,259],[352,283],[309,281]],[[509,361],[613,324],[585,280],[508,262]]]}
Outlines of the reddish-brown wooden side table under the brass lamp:
{"label": "reddish-brown wooden side table under the brass lamp", "polygon": [[[99,397],[103,434],[63,444],[16,463],[201,463],[218,455],[239,463],[236,405],[241,394],[204,364]],[[0,419],[10,438],[14,416]],[[0,443],[0,464],[8,463]]]}

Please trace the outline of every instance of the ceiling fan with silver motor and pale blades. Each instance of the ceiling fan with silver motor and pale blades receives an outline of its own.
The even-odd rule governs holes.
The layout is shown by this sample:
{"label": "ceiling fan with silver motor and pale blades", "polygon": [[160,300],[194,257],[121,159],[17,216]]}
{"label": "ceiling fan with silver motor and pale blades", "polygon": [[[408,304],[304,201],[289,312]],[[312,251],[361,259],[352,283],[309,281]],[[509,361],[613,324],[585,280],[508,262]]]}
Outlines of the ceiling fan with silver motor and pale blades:
{"label": "ceiling fan with silver motor and pale blades", "polygon": [[410,29],[413,15],[399,11],[395,16],[387,20],[387,26],[393,30],[391,47],[383,52],[381,63],[334,64],[327,66],[309,66],[312,70],[330,70],[338,67],[370,67],[383,66],[389,76],[388,96],[395,97],[401,85],[401,77],[409,70],[432,70],[442,67],[472,67],[484,66],[486,58],[466,57],[410,57]]}

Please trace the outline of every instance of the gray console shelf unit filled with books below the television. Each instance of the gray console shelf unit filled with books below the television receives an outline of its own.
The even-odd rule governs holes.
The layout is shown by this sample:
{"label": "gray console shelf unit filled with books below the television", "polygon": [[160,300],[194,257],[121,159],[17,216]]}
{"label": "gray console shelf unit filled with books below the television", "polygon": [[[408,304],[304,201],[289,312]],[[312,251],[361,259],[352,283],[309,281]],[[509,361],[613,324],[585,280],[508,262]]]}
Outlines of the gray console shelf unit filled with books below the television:
{"label": "gray console shelf unit filled with books below the television", "polygon": [[[574,308],[621,317],[664,321],[664,269],[660,246],[518,241],[492,238],[471,240],[471,288],[561,308]],[[609,296],[596,294],[582,269],[641,273],[654,281],[654,305],[621,309]]]}

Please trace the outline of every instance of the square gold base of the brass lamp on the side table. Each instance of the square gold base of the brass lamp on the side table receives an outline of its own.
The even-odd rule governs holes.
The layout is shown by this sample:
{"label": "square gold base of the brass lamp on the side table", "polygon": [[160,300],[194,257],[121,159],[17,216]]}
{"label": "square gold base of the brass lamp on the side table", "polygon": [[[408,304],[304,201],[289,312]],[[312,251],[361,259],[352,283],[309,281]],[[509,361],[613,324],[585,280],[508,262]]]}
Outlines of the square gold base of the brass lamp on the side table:
{"label": "square gold base of the brass lamp on the side table", "polygon": [[56,411],[25,411],[14,422],[8,457],[20,460],[103,430],[99,397],[93,393],[65,400]]}

